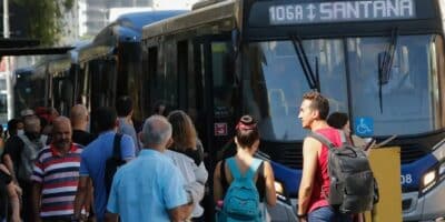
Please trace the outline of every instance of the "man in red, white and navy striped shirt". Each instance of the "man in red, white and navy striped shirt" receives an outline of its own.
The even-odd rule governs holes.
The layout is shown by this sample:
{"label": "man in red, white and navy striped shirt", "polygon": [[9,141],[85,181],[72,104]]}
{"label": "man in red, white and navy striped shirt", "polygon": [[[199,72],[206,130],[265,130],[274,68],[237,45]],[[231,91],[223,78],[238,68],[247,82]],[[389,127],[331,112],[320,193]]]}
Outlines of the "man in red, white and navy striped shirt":
{"label": "man in red, white and navy striped shirt", "polygon": [[52,124],[52,143],[39,152],[31,176],[36,222],[71,221],[73,214],[81,149],[71,142],[68,118],[59,117]]}

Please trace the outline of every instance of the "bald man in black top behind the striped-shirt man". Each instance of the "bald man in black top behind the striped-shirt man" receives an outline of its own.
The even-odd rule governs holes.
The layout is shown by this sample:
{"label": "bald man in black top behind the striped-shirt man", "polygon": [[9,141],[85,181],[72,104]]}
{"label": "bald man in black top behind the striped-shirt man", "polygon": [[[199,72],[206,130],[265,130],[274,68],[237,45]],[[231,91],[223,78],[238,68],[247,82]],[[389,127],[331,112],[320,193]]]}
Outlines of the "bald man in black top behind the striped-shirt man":
{"label": "bald man in black top behind the striped-shirt man", "polygon": [[72,127],[72,142],[86,147],[96,139],[95,134],[87,132],[90,118],[83,104],[76,104],[71,108],[70,120]]}

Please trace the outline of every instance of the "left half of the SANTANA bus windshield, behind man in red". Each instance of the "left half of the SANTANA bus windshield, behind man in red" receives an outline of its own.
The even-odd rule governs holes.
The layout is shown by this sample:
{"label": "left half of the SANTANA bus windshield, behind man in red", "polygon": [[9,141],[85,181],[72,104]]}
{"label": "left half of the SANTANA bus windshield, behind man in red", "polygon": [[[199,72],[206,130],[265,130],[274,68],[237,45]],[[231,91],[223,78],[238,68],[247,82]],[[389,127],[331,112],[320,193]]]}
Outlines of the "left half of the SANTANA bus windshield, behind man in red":
{"label": "left half of the SANTANA bus windshield, behind man in red", "polygon": [[[312,70],[319,73],[320,91],[330,109],[347,112],[344,43],[340,39],[303,40]],[[309,82],[290,40],[254,42],[247,53],[251,73],[245,89],[246,110],[259,120],[264,140],[301,140],[306,134],[298,119],[299,103]]]}

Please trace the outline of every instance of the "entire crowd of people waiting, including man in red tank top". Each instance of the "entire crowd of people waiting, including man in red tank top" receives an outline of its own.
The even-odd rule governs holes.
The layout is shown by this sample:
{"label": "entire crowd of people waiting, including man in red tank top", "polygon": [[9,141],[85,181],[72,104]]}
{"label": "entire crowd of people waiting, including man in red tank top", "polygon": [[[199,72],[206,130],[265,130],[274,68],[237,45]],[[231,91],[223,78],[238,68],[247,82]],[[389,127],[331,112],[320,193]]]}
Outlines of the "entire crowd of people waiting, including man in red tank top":
{"label": "entire crowd of people waiting, including man in red tank top", "polygon": [[[6,191],[1,203],[7,205],[2,208],[7,210],[0,211],[1,219],[14,222],[206,221],[200,204],[209,175],[204,164],[205,148],[186,112],[168,110],[167,113],[164,107],[159,108],[162,109],[146,119],[140,132],[131,120],[129,97],[119,98],[116,108],[96,110],[92,123],[82,104],[73,105],[69,117],[59,115],[53,109],[44,117],[32,110],[22,111],[20,119],[8,122],[2,137],[6,141],[0,141],[3,147],[0,190]],[[323,95],[305,94],[299,111],[303,127],[340,143],[338,131],[326,122],[327,114],[328,103]],[[329,121],[340,129],[347,125],[347,119],[343,118],[340,114]],[[91,124],[98,134],[88,132]],[[258,211],[249,211],[253,215],[246,216],[254,216],[251,221],[269,221],[266,205],[277,202],[275,178],[271,164],[254,155],[260,135],[253,117],[240,118],[234,142],[236,154],[219,161],[212,173],[216,218],[229,221],[233,209],[246,210],[258,204],[255,206]],[[303,151],[299,220],[327,216],[326,221],[347,221],[349,215],[328,208],[323,196],[329,180],[325,173],[326,148],[306,138]],[[107,180],[110,172],[111,180]],[[251,199],[255,204],[246,209],[236,205],[250,200],[247,196],[237,202],[240,191],[235,184],[243,183],[256,193]],[[245,191],[243,195],[250,194]]]}

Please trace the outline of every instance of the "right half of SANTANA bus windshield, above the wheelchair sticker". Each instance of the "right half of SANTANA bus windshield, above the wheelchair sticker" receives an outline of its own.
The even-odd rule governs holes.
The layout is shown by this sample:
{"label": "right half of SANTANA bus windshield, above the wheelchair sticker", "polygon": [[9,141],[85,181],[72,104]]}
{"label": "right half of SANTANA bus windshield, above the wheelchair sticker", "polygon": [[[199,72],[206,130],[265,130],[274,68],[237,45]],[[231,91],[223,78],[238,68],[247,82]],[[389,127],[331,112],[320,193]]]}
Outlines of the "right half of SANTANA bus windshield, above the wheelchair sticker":
{"label": "right half of SANTANA bus windshield, above the wheelchair sticker", "polygon": [[392,68],[382,79],[379,62],[389,40],[382,37],[348,39],[353,113],[356,119],[373,120],[372,134],[415,134],[437,128],[433,124],[432,104],[434,84],[437,84],[437,79],[432,78],[437,70],[433,62],[436,53],[432,53],[434,39],[439,38],[398,37]]}

